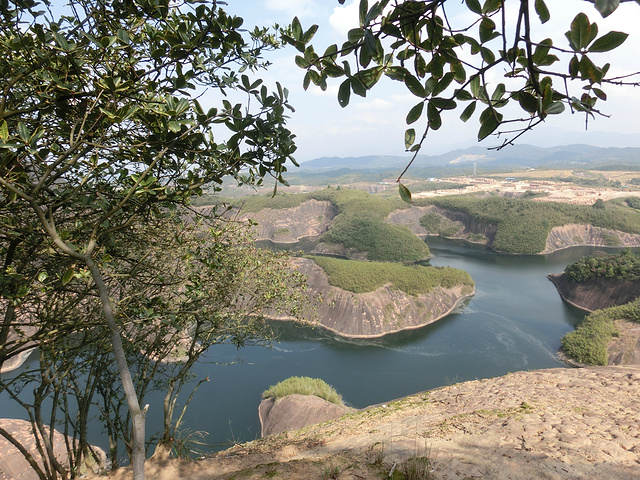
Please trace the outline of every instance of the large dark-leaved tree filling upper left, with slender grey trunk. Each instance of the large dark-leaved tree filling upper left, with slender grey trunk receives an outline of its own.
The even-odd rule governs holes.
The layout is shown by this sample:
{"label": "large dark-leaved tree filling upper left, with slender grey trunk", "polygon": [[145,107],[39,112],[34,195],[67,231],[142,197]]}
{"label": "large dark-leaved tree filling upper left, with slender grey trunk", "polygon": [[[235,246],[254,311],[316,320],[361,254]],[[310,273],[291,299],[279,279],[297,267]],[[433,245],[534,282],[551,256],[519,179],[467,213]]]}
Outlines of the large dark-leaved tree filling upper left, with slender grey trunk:
{"label": "large dark-leaved tree filling upper left, with slender grey trunk", "polygon": [[[279,46],[275,35],[243,30],[215,2],[72,0],[59,8],[0,2],[0,335],[24,299],[37,297],[38,281],[56,279],[60,291],[85,282],[108,326],[140,479],[145,413],[108,281],[111,250],[225,176],[283,181],[295,151],[288,92],[278,84],[270,93],[254,77],[263,52]],[[229,92],[246,102],[232,104]],[[219,105],[203,108],[197,98],[207,94]],[[41,336],[53,341],[44,327]]]}

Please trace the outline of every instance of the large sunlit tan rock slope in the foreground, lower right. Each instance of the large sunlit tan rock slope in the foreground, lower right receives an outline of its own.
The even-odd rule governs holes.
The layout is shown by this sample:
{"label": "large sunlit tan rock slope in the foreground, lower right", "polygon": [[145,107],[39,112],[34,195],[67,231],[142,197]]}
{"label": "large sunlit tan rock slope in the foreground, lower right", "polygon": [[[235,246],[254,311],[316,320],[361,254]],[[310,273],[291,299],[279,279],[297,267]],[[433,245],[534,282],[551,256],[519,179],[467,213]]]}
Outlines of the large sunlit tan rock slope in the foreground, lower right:
{"label": "large sunlit tan rock slope in the foreground, lower right", "polygon": [[[150,462],[150,479],[385,478],[428,454],[439,480],[602,478],[640,471],[640,369],[517,372],[413,395],[190,464]],[[335,467],[335,469],[334,469]],[[119,471],[115,479],[131,478]],[[325,477],[329,478],[329,477]]]}

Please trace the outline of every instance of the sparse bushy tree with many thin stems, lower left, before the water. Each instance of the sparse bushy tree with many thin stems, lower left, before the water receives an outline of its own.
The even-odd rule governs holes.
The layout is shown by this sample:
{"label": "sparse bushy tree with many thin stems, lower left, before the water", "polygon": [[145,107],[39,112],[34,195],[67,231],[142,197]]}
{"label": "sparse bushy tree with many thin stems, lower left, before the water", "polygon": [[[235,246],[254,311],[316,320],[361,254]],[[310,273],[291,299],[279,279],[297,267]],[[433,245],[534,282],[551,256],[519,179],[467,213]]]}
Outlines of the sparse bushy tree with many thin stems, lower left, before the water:
{"label": "sparse bushy tree with many thin stems, lower left, before the water", "polygon": [[[270,331],[264,317],[272,312],[297,317],[304,304],[302,276],[288,271],[286,255],[256,249],[247,225],[229,218],[185,222],[183,217],[136,226],[125,242],[112,246],[105,272],[116,311],[128,319],[121,324],[123,346],[137,397],[143,402],[158,390],[165,395],[163,428],[146,444],[147,449],[157,444],[156,451],[181,450],[178,433],[190,397],[186,402],[182,397],[180,412],[178,396],[192,385],[191,368],[207,349],[266,342]],[[92,418],[93,428],[99,418],[108,436],[112,467],[121,462],[119,446],[131,453],[126,398],[108,332],[94,320],[100,301],[85,294],[85,278],[71,279],[64,293],[57,291],[55,279],[41,282],[47,294],[38,308],[40,322],[70,334],[41,342],[39,365],[0,380],[0,389],[32,419],[37,442],[49,441],[45,419],[69,437],[68,466],[47,453],[39,467],[33,459],[43,479],[55,471],[75,476],[94,462],[97,453],[88,440]]]}

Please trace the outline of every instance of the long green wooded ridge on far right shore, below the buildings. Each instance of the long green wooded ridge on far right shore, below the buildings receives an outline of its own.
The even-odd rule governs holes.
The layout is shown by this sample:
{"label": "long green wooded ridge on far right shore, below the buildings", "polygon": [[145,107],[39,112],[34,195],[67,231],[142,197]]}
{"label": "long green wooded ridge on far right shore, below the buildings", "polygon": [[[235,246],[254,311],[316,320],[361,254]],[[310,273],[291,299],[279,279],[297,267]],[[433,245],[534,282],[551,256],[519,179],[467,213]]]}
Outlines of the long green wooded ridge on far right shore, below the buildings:
{"label": "long green wooded ridge on far right shore, below the buildings", "polygon": [[456,196],[423,199],[416,203],[463,212],[479,223],[495,225],[492,248],[506,253],[540,253],[546,248],[553,227],[570,224],[640,234],[640,212],[622,202],[607,202],[602,205],[605,208],[594,208],[498,196]]}

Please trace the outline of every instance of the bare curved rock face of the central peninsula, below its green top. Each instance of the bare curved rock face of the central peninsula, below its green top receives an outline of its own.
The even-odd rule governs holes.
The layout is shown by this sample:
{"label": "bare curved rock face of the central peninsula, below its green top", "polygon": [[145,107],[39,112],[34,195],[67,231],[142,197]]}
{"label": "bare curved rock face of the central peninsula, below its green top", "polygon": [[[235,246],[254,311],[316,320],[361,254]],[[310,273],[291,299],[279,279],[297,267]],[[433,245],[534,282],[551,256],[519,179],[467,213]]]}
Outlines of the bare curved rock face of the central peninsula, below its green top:
{"label": "bare curved rock face of the central peninsula, below its green top", "polygon": [[299,258],[296,264],[298,271],[307,276],[312,291],[322,295],[316,324],[344,337],[376,338],[424,327],[448,315],[474,294],[474,288],[468,285],[438,287],[416,297],[388,285],[373,292],[353,293],[329,285],[327,274],[313,261]]}

